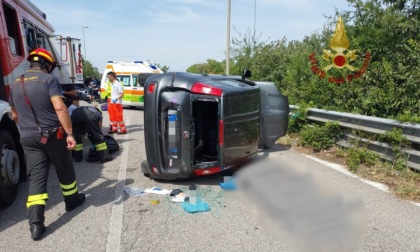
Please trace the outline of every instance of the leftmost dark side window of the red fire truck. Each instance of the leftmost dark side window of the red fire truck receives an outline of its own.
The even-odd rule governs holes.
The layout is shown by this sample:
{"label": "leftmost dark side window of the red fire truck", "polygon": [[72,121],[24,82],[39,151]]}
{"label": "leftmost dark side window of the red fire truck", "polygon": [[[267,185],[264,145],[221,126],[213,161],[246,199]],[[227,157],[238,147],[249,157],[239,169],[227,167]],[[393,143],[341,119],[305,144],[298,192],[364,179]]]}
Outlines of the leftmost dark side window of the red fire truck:
{"label": "leftmost dark side window of the red fire truck", "polygon": [[4,16],[6,18],[7,35],[10,51],[12,54],[23,56],[22,40],[19,36],[19,23],[16,10],[3,3]]}

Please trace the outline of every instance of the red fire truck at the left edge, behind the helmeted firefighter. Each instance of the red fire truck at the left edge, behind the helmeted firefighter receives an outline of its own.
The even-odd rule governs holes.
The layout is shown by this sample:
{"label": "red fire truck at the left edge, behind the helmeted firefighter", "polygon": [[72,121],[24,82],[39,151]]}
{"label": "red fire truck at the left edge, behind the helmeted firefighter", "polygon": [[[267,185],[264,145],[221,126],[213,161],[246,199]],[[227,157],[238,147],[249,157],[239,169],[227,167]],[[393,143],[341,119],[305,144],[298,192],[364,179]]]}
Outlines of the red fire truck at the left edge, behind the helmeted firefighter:
{"label": "red fire truck at the left edge, behind the helmeted firefighter", "polygon": [[2,0],[0,5],[0,207],[16,198],[19,181],[26,179],[26,162],[19,142],[20,131],[10,119],[10,85],[28,68],[29,52],[52,52],[55,75],[63,85],[83,84],[81,42],[55,35],[46,15],[29,0]]}

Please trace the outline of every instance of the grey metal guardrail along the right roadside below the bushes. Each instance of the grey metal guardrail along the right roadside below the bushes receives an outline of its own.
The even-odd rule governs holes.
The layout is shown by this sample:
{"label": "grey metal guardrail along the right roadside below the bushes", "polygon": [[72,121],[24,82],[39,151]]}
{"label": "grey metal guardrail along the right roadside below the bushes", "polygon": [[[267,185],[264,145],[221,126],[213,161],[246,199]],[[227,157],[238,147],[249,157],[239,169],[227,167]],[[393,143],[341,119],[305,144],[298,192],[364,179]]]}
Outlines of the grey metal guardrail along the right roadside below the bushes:
{"label": "grey metal guardrail along the right roadside below the bushes", "polygon": [[[290,105],[290,112],[293,114],[299,107]],[[342,128],[360,130],[373,134],[385,134],[394,128],[401,129],[403,136],[411,143],[420,144],[420,124],[402,123],[391,119],[379,117],[357,115],[351,113],[343,113],[336,111],[328,111],[316,108],[308,109],[307,118],[314,122],[335,121]],[[386,143],[370,141],[360,137],[345,134],[343,138],[337,142],[342,147],[355,147],[351,142],[354,140],[362,142],[366,147],[376,152],[381,158],[392,161],[394,160],[394,152],[392,146]],[[407,159],[406,164],[411,169],[420,172],[420,151],[406,149],[403,150]]]}

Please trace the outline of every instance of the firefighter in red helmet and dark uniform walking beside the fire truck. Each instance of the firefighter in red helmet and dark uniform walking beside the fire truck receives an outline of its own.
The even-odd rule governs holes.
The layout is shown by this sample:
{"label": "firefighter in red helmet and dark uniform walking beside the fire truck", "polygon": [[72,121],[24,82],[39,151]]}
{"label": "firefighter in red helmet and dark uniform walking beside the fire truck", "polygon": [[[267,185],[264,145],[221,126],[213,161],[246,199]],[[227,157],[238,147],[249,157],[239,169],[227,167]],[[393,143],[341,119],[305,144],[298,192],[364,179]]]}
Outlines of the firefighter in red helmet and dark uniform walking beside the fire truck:
{"label": "firefighter in red helmet and dark uniform walking beside the fire truck", "polygon": [[42,48],[32,51],[29,70],[11,85],[9,103],[12,118],[21,129],[20,141],[27,159],[29,195],[27,214],[31,237],[45,232],[45,206],[50,163],[54,164],[66,211],[83,204],[71,152],[76,144],[67,106],[58,80],[50,73],[56,66],[52,54]]}

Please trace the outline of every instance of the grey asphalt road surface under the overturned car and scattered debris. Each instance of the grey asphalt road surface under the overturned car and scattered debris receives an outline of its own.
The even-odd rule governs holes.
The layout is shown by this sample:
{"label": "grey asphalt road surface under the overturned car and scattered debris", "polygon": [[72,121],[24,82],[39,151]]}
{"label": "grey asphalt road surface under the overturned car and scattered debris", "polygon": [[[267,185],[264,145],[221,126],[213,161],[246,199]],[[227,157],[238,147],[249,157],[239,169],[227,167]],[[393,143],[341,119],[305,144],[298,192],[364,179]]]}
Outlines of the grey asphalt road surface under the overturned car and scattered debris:
{"label": "grey asphalt road surface under the overturned car and scattered debris", "polygon": [[[151,180],[140,172],[143,111],[125,109],[124,118],[129,133],[115,135],[121,149],[113,161],[75,163],[79,190],[87,195],[83,206],[65,212],[51,169],[47,231],[37,242],[26,219],[28,185],[21,183],[17,201],[0,209],[0,251],[420,251],[419,206],[284,146],[239,169],[234,192],[219,186],[232,173]],[[187,213],[167,195],[124,193],[188,192],[191,184],[210,211]]]}

